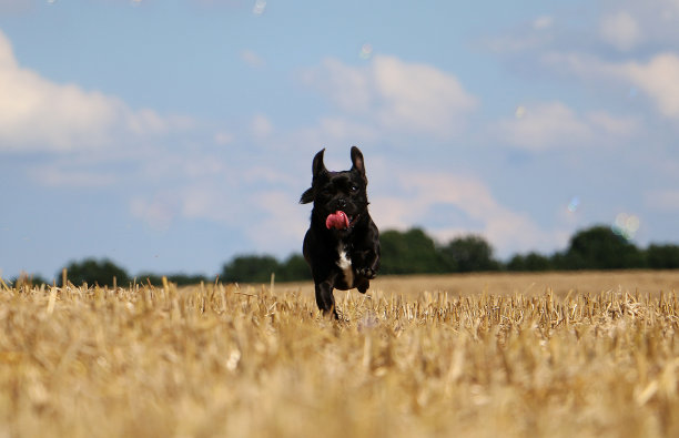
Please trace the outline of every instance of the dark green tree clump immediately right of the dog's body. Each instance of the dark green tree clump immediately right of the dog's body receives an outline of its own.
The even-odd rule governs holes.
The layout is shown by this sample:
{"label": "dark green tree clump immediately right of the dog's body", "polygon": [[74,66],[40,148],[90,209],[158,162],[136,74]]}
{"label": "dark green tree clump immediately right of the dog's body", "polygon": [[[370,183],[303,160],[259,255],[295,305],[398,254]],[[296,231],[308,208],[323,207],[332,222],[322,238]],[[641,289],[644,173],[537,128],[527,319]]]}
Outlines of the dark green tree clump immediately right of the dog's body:
{"label": "dark green tree clump immediately right of the dog's body", "polygon": [[379,235],[381,274],[442,272],[442,259],[432,237],[420,228],[387,230]]}

